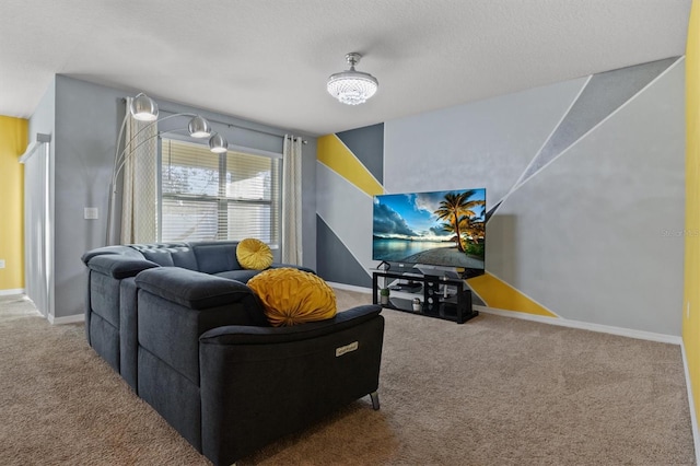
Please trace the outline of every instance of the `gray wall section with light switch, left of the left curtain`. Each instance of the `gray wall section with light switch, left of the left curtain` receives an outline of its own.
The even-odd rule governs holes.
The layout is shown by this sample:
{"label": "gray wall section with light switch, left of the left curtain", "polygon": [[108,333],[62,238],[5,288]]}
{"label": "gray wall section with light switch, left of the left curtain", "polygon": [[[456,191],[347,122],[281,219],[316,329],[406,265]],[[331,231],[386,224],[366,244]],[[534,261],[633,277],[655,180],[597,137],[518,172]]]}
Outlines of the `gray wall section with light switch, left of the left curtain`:
{"label": "gray wall section with light switch, left of the left curtain", "polygon": [[[80,257],[103,245],[121,96],[116,90],[56,77],[56,317],[84,312],[86,273]],[[97,207],[100,219],[83,220],[85,207]]]}

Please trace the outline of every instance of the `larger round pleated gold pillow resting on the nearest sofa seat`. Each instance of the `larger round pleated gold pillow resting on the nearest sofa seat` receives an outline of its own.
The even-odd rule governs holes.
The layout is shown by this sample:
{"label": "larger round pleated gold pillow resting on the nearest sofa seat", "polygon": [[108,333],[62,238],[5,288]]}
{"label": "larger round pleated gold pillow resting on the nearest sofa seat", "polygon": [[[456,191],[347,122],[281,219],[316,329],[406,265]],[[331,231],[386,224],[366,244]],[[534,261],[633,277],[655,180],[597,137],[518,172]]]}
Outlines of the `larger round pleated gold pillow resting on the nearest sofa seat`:
{"label": "larger round pleated gold pillow resting on the nearest sofa seat", "polygon": [[322,278],[284,267],[265,270],[250,280],[265,315],[275,327],[331,318],[337,313],[336,293]]}

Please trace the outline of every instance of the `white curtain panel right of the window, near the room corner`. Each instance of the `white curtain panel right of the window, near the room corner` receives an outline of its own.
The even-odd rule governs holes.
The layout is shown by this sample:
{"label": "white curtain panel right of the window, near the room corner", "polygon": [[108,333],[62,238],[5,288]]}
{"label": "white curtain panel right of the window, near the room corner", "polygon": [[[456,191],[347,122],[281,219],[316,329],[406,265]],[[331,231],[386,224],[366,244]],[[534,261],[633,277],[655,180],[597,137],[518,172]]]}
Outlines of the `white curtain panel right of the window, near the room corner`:
{"label": "white curtain panel right of the window, near the room corner", "polygon": [[282,263],[302,265],[302,138],[284,136]]}

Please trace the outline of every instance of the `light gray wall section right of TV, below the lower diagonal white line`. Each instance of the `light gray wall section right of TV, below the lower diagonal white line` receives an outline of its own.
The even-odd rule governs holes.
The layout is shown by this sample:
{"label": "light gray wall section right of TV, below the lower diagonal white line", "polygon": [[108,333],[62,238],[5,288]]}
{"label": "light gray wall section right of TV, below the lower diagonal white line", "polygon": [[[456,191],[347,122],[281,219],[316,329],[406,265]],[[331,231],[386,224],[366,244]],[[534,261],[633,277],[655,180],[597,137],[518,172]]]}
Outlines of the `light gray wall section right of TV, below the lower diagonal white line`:
{"label": "light gray wall section right of TV, below the lower diagonal white line", "polygon": [[560,317],[680,335],[684,67],[503,201],[487,269]]}

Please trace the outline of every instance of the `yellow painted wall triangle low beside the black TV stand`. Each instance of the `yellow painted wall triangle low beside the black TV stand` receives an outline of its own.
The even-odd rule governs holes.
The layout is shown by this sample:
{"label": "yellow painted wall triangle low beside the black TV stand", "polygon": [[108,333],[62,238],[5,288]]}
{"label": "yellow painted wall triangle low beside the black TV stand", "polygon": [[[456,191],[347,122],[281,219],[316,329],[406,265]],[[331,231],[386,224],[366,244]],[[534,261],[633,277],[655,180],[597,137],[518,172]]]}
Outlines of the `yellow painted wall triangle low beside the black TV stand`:
{"label": "yellow painted wall triangle low beside the black TV stand", "polygon": [[540,306],[506,282],[486,272],[482,276],[467,280],[471,288],[486,303],[488,307],[504,311],[515,311],[525,314],[558,317],[545,307]]}

